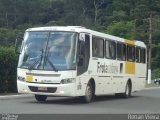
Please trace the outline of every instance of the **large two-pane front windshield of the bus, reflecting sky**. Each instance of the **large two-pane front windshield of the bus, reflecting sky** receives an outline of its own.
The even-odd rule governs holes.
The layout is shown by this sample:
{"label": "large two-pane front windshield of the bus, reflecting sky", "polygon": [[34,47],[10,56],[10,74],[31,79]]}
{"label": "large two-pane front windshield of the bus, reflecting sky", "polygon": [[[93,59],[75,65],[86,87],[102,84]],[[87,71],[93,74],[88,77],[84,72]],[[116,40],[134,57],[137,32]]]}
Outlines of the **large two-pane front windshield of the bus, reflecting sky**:
{"label": "large two-pane front windshield of the bus, reflecting sky", "polygon": [[75,32],[26,32],[18,67],[54,71],[76,69],[77,41]]}

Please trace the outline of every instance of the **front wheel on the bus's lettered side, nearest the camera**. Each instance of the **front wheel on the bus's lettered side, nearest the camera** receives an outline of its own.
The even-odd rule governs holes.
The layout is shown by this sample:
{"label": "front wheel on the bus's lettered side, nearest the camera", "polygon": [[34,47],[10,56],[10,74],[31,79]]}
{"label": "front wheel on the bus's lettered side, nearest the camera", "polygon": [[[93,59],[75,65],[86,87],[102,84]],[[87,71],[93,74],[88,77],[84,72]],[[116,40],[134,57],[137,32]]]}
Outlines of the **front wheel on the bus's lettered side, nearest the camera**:
{"label": "front wheel on the bus's lettered side, nearest the camera", "polygon": [[85,103],[90,103],[94,98],[94,88],[91,82],[86,86],[85,96],[82,97]]}

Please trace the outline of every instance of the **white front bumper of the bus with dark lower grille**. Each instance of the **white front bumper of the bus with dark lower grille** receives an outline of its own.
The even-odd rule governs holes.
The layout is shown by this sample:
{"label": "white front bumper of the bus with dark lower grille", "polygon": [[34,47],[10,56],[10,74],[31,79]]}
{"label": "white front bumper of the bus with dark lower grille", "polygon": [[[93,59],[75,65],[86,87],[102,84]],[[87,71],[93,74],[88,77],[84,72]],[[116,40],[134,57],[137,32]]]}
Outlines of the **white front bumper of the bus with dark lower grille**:
{"label": "white front bumper of the bus with dark lower grille", "polygon": [[79,96],[75,90],[75,83],[69,84],[39,84],[17,80],[18,93],[31,93],[47,96]]}

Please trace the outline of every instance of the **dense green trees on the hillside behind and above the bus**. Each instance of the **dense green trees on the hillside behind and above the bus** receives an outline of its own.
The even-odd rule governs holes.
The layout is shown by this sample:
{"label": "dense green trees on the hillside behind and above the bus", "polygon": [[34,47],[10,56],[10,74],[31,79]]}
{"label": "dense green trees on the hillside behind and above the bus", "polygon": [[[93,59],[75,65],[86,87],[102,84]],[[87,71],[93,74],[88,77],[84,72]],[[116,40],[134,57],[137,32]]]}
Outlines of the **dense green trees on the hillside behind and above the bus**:
{"label": "dense green trees on the hillside behind and above the bus", "polygon": [[[13,46],[15,30],[37,25],[81,25],[148,43],[151,12],[160,21],[159,0],[0,0],[0,43]],[[153,38],[158,40],[159,32],[154,31]]]}

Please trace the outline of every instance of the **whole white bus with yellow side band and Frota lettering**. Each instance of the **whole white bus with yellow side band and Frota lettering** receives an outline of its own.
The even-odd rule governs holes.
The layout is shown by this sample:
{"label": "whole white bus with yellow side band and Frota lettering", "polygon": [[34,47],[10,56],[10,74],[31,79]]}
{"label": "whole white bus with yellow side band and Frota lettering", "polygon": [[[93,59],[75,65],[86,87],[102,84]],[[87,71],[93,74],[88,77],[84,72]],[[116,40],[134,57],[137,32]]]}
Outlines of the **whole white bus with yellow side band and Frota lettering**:
{"label": "whole white bus with yellow side band and Frota lettering", "polygon": [[146,45],[80,26],[27,29],[17,68],[19,93],[130,97],[146,82]]}

